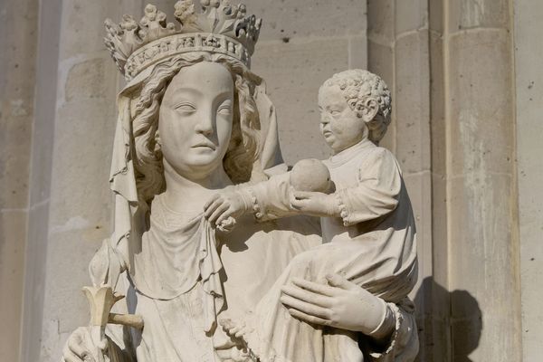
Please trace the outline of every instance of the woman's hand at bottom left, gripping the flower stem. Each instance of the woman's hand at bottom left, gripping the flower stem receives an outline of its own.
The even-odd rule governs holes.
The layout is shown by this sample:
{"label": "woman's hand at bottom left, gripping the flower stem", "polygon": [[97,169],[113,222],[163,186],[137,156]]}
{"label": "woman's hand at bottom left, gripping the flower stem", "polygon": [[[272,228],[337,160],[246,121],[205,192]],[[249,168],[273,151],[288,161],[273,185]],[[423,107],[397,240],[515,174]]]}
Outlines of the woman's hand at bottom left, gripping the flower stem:
{"label": "woman's hand at bottom left, gripping the flower stem", "polygon": [[103,338],[98,345],[90,336],[89,327],[80,327],[71,333],[62,350],[62,362],[108,362],[105,357],[108,339]]}

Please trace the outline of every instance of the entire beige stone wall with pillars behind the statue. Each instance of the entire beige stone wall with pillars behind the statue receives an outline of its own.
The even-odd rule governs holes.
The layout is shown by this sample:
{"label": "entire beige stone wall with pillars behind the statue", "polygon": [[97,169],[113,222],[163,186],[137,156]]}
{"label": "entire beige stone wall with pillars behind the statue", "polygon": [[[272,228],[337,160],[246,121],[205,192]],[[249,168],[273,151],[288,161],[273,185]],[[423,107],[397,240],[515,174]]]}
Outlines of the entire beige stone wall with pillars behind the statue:
{"label": "entire beige stone wall with pillars behind the statue", "polygon": [[[173,19],[174,0],[153,2]],[[365,68],[393,90],[383,145],[419,234],[418,359],[543,354],[543,72],[539,0],[245,0],[264,19],[283,156],[327,157],[317,90]],[[81,286],[112,219],[107,183],[122,87],[103,20],[143,0],[0,3],[2,361],[57,361],[88,322]],[[169,10],[168,10],[169,9]]]}

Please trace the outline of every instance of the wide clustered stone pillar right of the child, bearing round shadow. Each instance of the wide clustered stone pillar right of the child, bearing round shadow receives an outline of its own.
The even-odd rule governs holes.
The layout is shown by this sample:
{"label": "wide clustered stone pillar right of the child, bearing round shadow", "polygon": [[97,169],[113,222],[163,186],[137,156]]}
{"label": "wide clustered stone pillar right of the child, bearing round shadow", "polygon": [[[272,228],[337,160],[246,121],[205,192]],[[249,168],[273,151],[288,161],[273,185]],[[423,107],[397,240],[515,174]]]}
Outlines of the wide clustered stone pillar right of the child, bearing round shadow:
{"label": "wide clustered stone pillar right of the child, bearing round shadow", "polygon": [[417,215],[421,361],[520,358],[511,4],[368,1],[368,66],[395,95],[384,145]]}

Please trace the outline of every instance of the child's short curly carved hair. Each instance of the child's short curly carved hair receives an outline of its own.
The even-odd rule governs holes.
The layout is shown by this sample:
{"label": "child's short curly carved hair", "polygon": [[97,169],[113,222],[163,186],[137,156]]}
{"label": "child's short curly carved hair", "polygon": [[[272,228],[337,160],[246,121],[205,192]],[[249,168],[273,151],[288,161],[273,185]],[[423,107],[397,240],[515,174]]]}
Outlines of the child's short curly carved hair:
{"label": "child's short curly carved hair", "polygon": [[388,90],[385,81],[370,71],[352,69],[334,74],[320,86],[320,90],[335,85],[343,91],[348,106],[360,118],[367,97],[376,99],[379,110],[376,117],[367,123],[367,129],[369,130],[368,138],[378,143],[385,136],[386,128],[390,124],[392,110],[390,90]]}

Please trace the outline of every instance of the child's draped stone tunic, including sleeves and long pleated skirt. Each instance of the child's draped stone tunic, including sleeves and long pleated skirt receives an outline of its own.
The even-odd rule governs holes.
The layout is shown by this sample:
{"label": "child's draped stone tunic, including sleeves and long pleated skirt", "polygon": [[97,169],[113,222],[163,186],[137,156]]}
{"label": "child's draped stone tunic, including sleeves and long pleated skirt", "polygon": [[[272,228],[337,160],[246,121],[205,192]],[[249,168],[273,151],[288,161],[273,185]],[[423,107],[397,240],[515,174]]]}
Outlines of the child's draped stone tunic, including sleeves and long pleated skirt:
{"label": "child's draped stone tunic, including sleeves and long pleated skirt", "polygon": [[[245,340],[262,362],[365,359],[357,333],[291,317],[280,298],[281,286],[292,278],[326,283],[335,272],[393,303],[404,300],[416,281],[414,216],[395,157],[363,140],[325,164],[341,217],[321,218],[323,244],[291,261],[249,319],[254,330]],[[272,177],[252,192],[262,219],[290,214],[288,176]]]}

